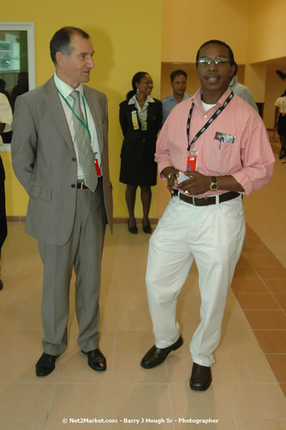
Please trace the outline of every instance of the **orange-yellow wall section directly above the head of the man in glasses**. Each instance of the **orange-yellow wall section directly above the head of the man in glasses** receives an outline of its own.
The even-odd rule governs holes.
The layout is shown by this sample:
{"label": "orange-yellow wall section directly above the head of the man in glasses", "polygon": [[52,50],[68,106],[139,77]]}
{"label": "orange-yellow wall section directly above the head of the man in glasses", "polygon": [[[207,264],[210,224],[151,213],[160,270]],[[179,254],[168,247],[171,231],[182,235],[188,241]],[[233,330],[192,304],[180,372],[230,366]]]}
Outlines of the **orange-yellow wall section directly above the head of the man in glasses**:
{"label": "orange-yellow wall section directly above the head of the man in glasses", "polygon": [[163,62],[194,62],[202,43],[224,40],[245,64],[248,0],[163,0]]}

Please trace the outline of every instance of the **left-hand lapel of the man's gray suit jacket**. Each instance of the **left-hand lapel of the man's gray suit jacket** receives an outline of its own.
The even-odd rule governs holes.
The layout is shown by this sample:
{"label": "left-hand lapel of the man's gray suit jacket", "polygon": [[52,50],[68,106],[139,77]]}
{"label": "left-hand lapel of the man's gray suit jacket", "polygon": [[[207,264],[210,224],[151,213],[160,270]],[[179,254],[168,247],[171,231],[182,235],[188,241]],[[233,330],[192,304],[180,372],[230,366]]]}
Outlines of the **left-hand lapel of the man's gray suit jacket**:
{"label": "left-hand lapel of the man's gray suit jacket", "polygon": [[67,142],[67,145],[71,147],[74,152],[73,141],[71,139],[71,133],[69,131],[69,126],[67,123],[67,118],[64,115],[64,110],[62,108],[62,102],[60,101],[60,97],[58,91],[56,89],[56,85],[53,81],[53,77],[47,81],[45,84],[45,95],[44,95],[45,103],[47,104],[47,108],[55,121],[56,126],[62,135],[64,141]]}

